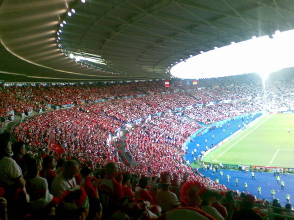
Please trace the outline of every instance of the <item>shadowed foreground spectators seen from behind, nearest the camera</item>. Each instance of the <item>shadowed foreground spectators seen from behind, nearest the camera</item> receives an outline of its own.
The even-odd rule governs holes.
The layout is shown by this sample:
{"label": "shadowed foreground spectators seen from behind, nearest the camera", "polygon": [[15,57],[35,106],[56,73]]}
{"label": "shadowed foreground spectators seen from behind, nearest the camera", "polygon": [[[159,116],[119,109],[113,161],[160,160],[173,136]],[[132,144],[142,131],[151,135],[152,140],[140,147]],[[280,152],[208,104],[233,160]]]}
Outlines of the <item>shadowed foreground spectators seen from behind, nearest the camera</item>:
{"label": "shadowed foreground spectators seen from behind, nearest the camera", "polygon": [[[256,200],[207,179],[164,171],[146,175],[121,163],[105,166],[27,151],[0,135],[1,220],[262,220],[293,217],[277,200]],[[180,173],[179,173],[180,174]],[[257,207],[258,205],[258,207]],[[261,206],[260,206],[261,205]],[[267,205],[267,207],[262,205]],[[282,215],[284,217],[282,217]]]}

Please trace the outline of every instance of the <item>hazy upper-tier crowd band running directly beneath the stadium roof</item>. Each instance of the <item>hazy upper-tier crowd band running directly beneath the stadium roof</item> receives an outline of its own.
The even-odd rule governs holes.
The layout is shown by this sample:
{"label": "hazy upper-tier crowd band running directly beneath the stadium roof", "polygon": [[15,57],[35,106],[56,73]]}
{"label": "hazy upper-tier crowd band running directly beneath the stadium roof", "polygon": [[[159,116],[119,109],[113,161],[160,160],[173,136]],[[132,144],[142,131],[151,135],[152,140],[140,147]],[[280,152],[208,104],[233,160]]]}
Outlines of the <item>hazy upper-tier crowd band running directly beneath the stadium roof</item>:
{"label": "hazy upper-tier crowd band running directly beneath the stadium roof", "polygon": [[[181,82],[181,84],[179,83]],[[148,108],[172,108],[173,106],[189,104],[207,104],[221,100],[250,99],[262,104],[265,109],[276,109],[294,105],[292,98],[293,73],[286,71],[271,75],[263,87],[257,74],[199,79],[197,85],[187,85],[184,80],[170,81],[170,87],[164,87],[164,81],[138,81],[107,84],[75,84],[75,85],[38,85],[38,86],[2,86],[0,88],[0,117],[9,120],[15,114],[46,110],[47,105],[94,103],[101,99],[122,97],[133,98],[136,105],[142,103]],[[168,94],[161,94],[161,93]],[[179,100],[179,101],[177,101]],[[113,101],[115,102],[115,101]],[[130,101],[125,101],[126,108]],[[116,104],[116,103],[115,103]],[[113,110],[117,108],[113,107]],[[133,110],[135,111],[135,110]],[[112,113],[111,113],[112,114]],[[122,114],[118,117],[125,121]]]}

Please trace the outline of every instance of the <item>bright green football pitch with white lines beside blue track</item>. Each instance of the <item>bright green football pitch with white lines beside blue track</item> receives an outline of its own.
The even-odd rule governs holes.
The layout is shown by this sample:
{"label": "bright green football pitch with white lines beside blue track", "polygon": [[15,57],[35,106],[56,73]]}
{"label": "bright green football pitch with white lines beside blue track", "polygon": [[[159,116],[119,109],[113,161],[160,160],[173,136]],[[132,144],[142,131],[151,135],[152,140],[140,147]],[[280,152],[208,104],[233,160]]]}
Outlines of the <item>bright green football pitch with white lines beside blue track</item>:
{"label": "bright green football pitch with white lines beside blue track", "polygon": [[203,161],[294,168],[294,114],[261,116],[256,124],[216,148]]}

